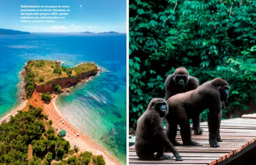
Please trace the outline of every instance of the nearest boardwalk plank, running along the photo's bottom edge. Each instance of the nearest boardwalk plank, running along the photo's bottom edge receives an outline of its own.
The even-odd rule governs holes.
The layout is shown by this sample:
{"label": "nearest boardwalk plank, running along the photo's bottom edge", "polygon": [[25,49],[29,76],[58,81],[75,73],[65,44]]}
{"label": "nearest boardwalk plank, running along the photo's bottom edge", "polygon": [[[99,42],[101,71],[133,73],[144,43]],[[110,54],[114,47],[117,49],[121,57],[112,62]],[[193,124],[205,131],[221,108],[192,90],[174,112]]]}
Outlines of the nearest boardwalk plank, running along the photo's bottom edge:
{"label": "nearest boardwalk plank, running along the photo's bottom edge", "polygon": [[175,159],[169,159],[169,160],[158,160],[158,161],[145,161],[145,160],[139,160],[139,159],[129,159],[130,163],[161,163],[161,164],[207,164],[207,165],[215,165],[217,163],[216,160],[183,160],[182,162],[176,161]]}

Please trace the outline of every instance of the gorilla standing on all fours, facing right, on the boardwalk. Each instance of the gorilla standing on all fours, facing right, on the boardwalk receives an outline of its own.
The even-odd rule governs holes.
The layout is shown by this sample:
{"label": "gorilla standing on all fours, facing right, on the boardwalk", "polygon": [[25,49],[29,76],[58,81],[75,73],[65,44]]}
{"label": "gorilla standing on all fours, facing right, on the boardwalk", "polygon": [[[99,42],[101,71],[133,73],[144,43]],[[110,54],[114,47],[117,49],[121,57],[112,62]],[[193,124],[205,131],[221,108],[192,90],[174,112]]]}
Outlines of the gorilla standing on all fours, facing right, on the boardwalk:
{"label": "gorilla standing on all fours, facing right, on the boardwalk", "polygon": [[[200,115],[209,108],[208,128],[210,147],[219,147],[222,141],[219,135],[219,127],[222,118],[221,101],[228,99],[228,83],[220,78],[206,82],[197,89],[180,93],[167,100],[169,113],[166,116],[169,130],[168,138],[174,146],[182,145],[176,141],[177,125],[180,125],[180,134],[184,145],[201,146],[191,140],[189,119]],[[217,142],[218,141],[218,142]]]}

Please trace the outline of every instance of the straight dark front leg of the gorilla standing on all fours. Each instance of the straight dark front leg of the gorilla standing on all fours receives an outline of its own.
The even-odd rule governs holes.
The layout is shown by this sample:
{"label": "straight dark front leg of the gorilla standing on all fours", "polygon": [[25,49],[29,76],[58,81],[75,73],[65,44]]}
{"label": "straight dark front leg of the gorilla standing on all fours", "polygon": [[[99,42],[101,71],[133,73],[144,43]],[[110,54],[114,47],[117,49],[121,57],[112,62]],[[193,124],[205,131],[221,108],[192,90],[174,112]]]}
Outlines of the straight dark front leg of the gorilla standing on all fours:
{"label": "straight dark front leg of the gorilla standing on all fours", "polygon": [[210,112],[208,114],[209,143],[210,147],[219,147],[217,132],[221,121],[221,114]]}

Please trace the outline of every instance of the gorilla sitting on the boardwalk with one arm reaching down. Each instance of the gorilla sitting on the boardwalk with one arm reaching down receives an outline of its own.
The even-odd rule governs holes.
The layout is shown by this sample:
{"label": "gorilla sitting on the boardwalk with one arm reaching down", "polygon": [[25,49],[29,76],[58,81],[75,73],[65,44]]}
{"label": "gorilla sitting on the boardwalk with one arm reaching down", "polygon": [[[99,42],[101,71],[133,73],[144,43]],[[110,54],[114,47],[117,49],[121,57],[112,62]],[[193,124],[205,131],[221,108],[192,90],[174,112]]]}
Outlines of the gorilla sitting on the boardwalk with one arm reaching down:
{"label": "gorilla sitting on the boardwalk with one arm reaching down", "polygon": [[[169,159],[173,156],[164,155],[164,150],[169,147],[177,161],[182,161],[176,148],[163,131],[163,117],[168,113],[168,106],[164,99],[153,98],[148,104],[145,113],[137,122],[135,139],[136,154],[140,159],[159,160]],[[154,156],[154,153],[156,153]]]}

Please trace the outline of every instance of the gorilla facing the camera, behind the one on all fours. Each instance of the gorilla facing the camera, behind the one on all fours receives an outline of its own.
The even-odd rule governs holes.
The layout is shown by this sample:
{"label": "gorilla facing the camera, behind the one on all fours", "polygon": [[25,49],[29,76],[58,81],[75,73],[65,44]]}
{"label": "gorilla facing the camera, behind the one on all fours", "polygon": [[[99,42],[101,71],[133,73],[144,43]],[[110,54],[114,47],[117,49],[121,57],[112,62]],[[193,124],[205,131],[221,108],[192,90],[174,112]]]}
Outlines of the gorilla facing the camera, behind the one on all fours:
{"label": "gorilla facing the camera, behind the one on all fours", "polygon": [[[194,90],[198,86],[197,78],[189,76],[188,71],[184,67],[178,67],[175,72],[167,76],[165,80],[165,100],[168,100],[168,98],[173,95]],[[200,115],[194,116],[192,119],[193,126],[191,129],[194,130],[194,134],[203,134],[203,129],[200,128],[200,120]]]}

